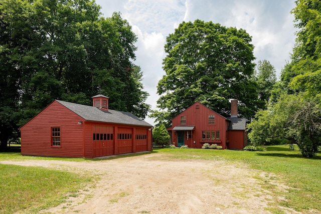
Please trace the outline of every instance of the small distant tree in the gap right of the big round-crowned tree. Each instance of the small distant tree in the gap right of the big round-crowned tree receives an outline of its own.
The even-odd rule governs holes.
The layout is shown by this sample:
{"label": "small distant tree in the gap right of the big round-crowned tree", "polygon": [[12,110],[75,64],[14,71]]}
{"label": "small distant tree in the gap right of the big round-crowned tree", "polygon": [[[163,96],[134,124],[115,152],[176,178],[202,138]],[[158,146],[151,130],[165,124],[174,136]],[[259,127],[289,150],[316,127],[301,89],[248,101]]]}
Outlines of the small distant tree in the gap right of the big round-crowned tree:
{"label": "small distant tree in the gap right of the big round-crowned tree", "polygon": [[259,99],[263,103],[267,103],[271,96],[271,90],[276,83],[275,68],[269,61],[258,61],[254,80],[258,84]]}

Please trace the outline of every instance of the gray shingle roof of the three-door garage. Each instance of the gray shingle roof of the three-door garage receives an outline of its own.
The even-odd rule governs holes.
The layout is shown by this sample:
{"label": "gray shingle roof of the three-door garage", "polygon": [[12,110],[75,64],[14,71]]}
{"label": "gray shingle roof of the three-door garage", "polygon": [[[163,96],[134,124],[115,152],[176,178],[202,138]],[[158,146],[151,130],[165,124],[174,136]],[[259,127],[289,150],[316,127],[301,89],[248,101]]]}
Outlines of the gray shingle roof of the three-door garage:
{"label": "gray shingle roof of the three-door garage", "polygon": [[56,101],[87,121],[152,127],[152,125],[150,125],[149,123],[143,121],[142,119],[129,112],[116,111],[111,109],[109,109],[108,111],[101,111],[100,109],[93,106],[86,106],[61,100]]}

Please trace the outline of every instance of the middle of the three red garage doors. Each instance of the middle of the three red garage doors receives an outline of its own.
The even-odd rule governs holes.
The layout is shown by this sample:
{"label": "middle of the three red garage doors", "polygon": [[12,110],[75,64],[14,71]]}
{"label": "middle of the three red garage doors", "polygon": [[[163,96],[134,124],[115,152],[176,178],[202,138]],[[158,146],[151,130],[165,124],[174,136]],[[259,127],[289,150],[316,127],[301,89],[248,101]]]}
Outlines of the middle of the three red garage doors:
{"label": "middle of the three red garage doors", "polygon": [[118,128],[117,144],[118,154],[131,153],[132,152],[132,128]]}

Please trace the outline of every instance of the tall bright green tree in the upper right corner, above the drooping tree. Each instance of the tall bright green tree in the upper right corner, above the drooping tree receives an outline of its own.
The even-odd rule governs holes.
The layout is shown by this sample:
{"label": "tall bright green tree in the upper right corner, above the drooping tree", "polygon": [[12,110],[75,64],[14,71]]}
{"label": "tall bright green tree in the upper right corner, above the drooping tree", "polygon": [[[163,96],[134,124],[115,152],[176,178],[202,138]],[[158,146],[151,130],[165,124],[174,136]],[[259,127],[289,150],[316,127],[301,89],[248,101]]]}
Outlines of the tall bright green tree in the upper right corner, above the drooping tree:
{"label": "tall bright green tree in the upper right corner, above the drooping tree", "polygon": [[289,87],[295,91],[306,91],[311,97],[321,98],[321,2],[297,0],[291,11],[295,18],[296,44],[292,53],[291,71],[295,74]]}

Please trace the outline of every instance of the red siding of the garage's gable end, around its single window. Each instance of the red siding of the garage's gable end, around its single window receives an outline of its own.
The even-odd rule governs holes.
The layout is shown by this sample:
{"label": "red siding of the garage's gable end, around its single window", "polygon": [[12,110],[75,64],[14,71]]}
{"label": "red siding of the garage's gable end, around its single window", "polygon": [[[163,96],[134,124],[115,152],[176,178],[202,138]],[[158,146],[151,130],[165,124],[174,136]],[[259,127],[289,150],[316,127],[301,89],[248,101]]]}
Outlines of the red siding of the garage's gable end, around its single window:
{"label": "red siding of the garage's gable end, around its single window", "polygon": [[[21,153],[82,157],[83,125],[78,124],[79,120],[82,118],[54,101],[21,128]],[[52,127],[60,127],[60,147],[52,146]]]}

